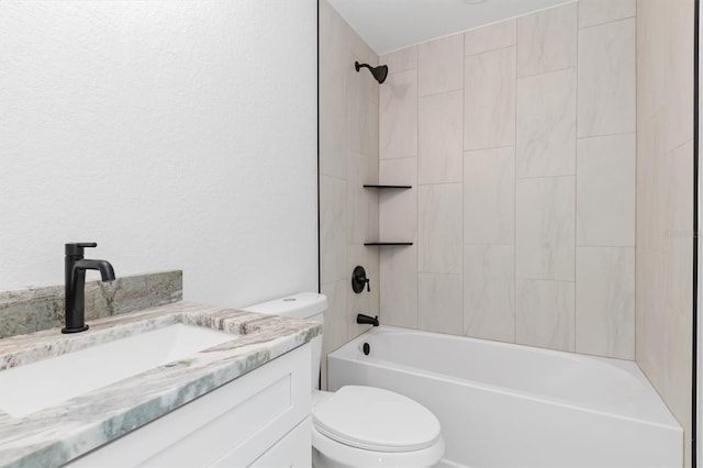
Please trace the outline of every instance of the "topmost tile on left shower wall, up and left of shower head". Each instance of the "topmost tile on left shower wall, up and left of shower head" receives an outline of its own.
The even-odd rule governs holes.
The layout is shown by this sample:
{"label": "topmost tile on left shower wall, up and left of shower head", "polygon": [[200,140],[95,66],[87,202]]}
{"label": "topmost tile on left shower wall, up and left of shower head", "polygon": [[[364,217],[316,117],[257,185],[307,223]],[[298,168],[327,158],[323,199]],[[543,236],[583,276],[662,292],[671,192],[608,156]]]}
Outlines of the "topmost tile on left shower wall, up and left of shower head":
{"label": "topmost tile on left shower wall, up and left of shower head", "polygon": [[326,0],[320,0],[320,65],[344,76],[346,70],[346,30],[349,27]]}

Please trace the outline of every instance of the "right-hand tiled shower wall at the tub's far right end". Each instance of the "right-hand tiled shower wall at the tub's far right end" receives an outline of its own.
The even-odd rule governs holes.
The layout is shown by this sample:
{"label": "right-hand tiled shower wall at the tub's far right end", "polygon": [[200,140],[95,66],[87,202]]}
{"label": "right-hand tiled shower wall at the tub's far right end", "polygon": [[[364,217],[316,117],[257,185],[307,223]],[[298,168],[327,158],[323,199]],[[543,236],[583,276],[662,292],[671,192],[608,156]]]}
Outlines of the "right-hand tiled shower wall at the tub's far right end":
{"label": "right-hand tiled shower wall at the tub's far right end", "polygon": [[[693,0],[637,2],[637,364],[691,433]],[[685,464],[690,466],[690,444]]]}

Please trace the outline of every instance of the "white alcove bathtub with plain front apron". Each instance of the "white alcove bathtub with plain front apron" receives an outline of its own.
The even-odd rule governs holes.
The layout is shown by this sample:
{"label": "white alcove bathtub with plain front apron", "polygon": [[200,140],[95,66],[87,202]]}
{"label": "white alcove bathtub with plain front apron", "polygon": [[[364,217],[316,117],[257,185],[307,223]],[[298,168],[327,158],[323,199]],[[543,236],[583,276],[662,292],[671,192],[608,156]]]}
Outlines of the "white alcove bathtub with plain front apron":
{"label": "white alcove bathtub with plain front apron", "polygon": [[424,404],[448,466],[683,465],[683,431],[632,361],[379,326],[328,355],[327,382]]}

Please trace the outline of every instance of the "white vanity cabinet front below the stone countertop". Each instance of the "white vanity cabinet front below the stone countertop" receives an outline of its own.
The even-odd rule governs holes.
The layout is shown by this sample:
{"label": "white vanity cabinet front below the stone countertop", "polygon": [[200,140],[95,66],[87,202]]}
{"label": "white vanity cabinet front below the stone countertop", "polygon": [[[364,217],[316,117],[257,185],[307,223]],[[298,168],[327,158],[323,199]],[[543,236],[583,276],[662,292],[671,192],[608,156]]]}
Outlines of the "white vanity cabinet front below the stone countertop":
{"label": "white vanity cabinet front below the stone countertop", "polygon": [[113,441],[70,467],[310,467],[311,345]]}

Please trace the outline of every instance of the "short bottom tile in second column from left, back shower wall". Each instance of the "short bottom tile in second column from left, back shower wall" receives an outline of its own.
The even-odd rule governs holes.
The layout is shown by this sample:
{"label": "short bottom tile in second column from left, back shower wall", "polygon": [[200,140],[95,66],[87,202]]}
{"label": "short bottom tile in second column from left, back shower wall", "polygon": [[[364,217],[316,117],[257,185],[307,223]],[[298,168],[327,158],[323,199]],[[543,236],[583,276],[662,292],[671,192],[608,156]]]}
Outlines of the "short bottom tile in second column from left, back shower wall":
{"label": "short bottom tile in second column from left, back shower wall", "polygon": [[464,332],[461,275],[417,275],[420,328],[460,335]]}

